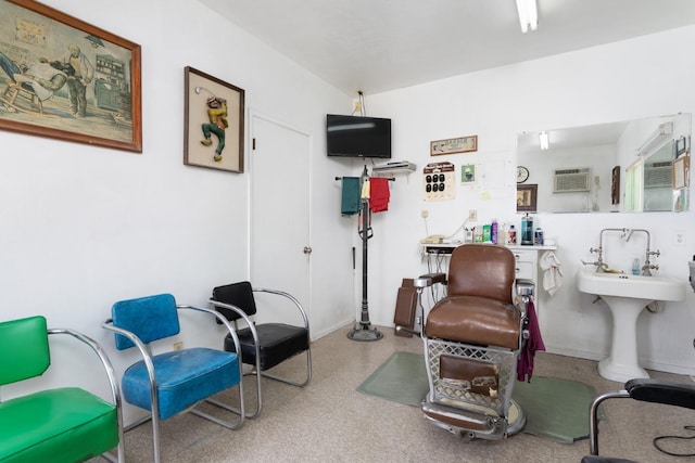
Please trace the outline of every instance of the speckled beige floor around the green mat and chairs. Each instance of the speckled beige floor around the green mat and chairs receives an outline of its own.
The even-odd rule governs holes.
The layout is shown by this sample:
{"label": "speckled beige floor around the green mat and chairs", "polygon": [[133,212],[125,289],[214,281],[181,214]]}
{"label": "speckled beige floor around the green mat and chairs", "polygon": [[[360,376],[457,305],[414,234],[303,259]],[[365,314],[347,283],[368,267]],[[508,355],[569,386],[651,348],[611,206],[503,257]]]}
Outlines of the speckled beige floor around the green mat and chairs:
{"label": "speckled beige floor around the green mat and chairs", "polygon": [[[579,462],[589,454],[589,441],[557,443],[527,434],[505,440],[463,440],[425,421],[418,408],[403,406],[356,390],[357,386],[394,351],[421,352],[419,338],[393,335],[377,342],[346,337],[351,326],[312,345],[314,377],[305,388],[264,380],[263,412],[238,430],[225,429],[190,413],[162,423],[163,462]],[[288,365],[300,369],[303,358]],[[281,373],[278,371],[278,373]],[[691,382],[686,376],[650,372],[655,377]],[[539,352],[538,375],[581,381],[598,393],[621,384],[598,376],[596,362]],[[255,400],[251,377],[244,380]],[[225,393],[233,397],[231,393]],[[218,413],[210,406],[201,406]],[[628,399],[605,402],[606,421],[599,424],[601,453],[641,462],[683,461],[654,448],[660,435],[690,435],[695,412]],[[151,426],[146,423],[126,434],[127,461],[151,462]],[[694,441],[669,442],[675,452],[695,452]]]}

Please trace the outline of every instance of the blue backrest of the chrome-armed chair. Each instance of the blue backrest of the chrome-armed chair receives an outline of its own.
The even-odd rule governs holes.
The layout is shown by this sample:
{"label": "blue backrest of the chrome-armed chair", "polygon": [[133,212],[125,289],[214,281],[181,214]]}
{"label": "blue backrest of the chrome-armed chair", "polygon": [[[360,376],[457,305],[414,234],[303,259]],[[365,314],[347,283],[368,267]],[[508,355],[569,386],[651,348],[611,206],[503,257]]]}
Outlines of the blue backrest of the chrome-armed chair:
{"label": "blue backrest of the chrome-armed chair", "polygon": [[[119,300],[111,308],[113,325],[128,330],[144,344],[177,335],[180,331],[176,299],[170,294]],[[130,339],[115,335],[118,350],[134,347]]]}

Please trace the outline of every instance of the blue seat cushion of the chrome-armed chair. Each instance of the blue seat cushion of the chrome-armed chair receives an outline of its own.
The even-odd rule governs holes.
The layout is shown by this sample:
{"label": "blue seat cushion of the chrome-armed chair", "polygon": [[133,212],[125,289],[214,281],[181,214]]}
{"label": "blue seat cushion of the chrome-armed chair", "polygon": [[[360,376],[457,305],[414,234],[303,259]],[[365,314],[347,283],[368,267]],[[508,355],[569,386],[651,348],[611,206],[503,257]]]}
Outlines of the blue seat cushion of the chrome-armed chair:
{"label": "blue seat cushion of the chrome-armed chair", "polygon": [[[160,420],[166,420],[199,401],[239,384],[236,353],[197,347],[152,358],[157,382]],[[141,360],[123,375],[123,397],[128,403],[152,410],[150,378]]]}

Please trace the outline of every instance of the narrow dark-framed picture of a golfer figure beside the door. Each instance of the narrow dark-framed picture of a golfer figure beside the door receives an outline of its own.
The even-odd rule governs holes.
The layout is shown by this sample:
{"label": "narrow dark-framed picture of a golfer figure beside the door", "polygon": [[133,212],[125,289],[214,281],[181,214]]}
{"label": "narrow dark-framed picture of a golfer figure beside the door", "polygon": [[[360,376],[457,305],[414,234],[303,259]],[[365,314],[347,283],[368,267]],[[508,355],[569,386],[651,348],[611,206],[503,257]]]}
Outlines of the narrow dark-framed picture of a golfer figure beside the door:
{"label": "narrow dark-framed picture of a golfer figure beside the door", "polygon": [[243,172],[244,91],[187,66],[184,164]]}

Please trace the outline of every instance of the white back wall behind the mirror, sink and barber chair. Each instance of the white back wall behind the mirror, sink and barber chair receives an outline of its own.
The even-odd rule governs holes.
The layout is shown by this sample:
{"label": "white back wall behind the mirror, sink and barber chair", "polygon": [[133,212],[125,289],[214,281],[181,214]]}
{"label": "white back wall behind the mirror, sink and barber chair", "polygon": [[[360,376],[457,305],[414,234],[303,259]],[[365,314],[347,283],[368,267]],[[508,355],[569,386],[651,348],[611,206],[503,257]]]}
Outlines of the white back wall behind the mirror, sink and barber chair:
{"label": "white back wall behind the mirror, sink and barber chair", "polygon": [[[391,210],[372,221],[370,253],[378,268],[370,275],[371,319],[392,323],[396,290],[402,278],[422,273],[418,240],[425,235],[420,210],[429,210],[429,233],[452,233],[477,209],[481,222],[496,218],[516,222],[516,134],[553,127],[571,127],[695,111],[695,64],[683,60],[684,43],[695,40],[687,27],[634,40],[547,59],[463,75],[397,91],[367,95],[368,107],[393,118],[394,157],[408,159],[418,171],[400,178],[392,189]],[[429,156],[429,141],[478,134],[473,154]],[[504,185],[458,185],[454,201],[424,202],[421,168],[431,162],[480,164],[483,172],[505,168]],[[692,204],[692,201],[691,201]],[[580,259],[592,259],[603,228],[646,228],[660,273],[687,279],[695,254],[695,211],[684,214],[541,214],[535,226],[559,244],[564,287],[540,296],[541,326],[548,350],[599,359],[607,353],[611,319],[603,303],[580,294],[576,273]],[[685,246],[674,245],[674,231],[685,231]],[[621,247],[609,241],[607,261],[629,270],[632,256],[644,254],[644,242]],[[634,248],[631,246],[635,246]],[[648,368],[695,373],[695,296],[670,303],[639,322],[640,360]]]}

